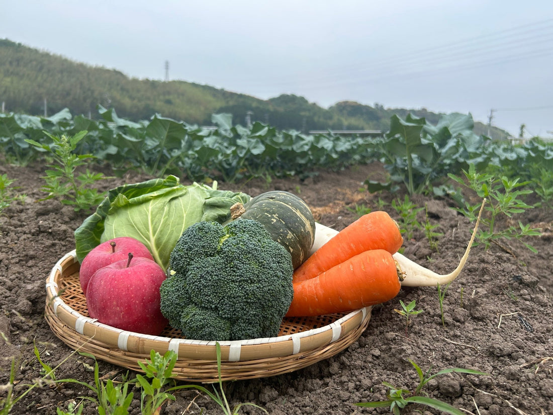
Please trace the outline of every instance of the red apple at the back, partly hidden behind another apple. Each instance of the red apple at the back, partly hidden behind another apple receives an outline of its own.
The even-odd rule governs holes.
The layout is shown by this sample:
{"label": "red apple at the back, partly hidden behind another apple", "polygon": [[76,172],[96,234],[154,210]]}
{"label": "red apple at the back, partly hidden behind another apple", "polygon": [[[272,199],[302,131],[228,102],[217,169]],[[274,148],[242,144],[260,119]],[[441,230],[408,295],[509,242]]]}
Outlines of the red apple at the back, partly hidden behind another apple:
{"label": "red apple at the back, partly hidden behind another apple", "polygon": [[128,236],[113,238],[109,241],[102,242],[88,252],[84,260],[82,260],[81,269],[79,271],[82,292],[86,295],[88,282],[98,269],[117,261],[127,260],[129,252],[131,252],[134,257],[144,257],[150,260],[154,259],[152,253],[150,253],[142,242]]}

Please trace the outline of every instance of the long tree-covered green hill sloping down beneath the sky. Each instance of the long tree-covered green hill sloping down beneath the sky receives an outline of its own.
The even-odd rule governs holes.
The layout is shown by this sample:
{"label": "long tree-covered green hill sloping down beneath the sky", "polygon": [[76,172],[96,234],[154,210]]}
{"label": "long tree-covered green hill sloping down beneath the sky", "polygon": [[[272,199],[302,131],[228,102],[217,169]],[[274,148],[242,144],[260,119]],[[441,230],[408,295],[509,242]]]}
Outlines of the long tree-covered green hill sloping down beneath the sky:
{"label": "long tree-covered green hill sloping down beneath the sky", "polygon": [[[113,107],[129,120],[148,120],[155,113],[190,124],[210,125],[213,113],[232,113],[234,122],[261,121],[279,129],[388,129],[395,113],[408,112],[436,123],[426,110],[384,108],[339,102],[326,109],[305,98],[281,95],[269,100],[185,81],[128,77],[122,72],[90,66],[63,56],[0,39],[0,103],[8,112],[48,115],[67,107],[72,115],[97,116],[97,105]],[[474,132],[487,126],[476,123]],[[493,129],[493,137],[505,132]]]}

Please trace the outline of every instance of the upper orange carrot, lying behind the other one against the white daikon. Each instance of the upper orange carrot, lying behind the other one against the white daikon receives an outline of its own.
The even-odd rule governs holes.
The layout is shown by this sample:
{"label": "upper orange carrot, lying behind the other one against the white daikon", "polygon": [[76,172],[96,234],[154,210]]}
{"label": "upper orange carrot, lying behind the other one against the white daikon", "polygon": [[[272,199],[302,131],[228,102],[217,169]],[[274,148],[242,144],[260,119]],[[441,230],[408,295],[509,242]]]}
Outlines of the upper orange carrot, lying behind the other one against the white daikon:
{"label": "upper orange carrot, lying behind the other one against the white daikon", "polygon": [[382,249],[393,254],[403,244],[398,224],[384,211],[361,216],[321,246],[294,271],[294,282],[316,277],[364,251]]}

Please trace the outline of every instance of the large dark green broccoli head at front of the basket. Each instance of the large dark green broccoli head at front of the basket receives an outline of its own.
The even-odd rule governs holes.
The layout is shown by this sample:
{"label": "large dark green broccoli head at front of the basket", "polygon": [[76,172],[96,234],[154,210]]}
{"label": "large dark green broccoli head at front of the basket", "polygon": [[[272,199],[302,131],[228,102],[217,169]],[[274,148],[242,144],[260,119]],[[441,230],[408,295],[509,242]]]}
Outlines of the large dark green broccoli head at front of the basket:
{"label": "large dark green broccoli head at front of the basket", "polygon": [[197,222],[179,238],[161,313],[187,339],[278,335],[294,294],[290,253],[259,222]]}

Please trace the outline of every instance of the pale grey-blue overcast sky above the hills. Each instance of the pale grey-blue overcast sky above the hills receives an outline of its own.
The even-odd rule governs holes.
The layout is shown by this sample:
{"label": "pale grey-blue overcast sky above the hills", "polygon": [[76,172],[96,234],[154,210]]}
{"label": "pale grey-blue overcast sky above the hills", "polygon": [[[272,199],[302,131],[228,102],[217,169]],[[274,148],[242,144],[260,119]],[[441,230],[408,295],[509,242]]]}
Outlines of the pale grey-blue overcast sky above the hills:
{"label": "pale grey-blue overcast sky above the hills", "polygon": [[[0,38],[131,77],[553,136],[551,0],[0,0]],[[116,108],[117,110],[117,108]],[[492,111],[493,110],[493,111]]]}

